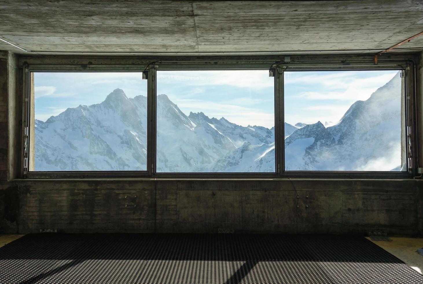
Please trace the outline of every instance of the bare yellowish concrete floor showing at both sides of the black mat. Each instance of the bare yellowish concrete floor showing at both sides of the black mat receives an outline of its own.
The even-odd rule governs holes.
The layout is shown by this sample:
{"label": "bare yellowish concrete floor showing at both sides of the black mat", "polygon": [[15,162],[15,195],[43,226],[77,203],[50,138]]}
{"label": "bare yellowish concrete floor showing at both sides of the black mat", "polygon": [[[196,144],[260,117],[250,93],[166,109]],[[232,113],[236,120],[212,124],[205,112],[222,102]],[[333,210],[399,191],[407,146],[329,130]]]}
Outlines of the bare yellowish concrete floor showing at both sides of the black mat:
{"label": "bare yellowish concrete floor showing at both sides of the black mat", "polygon": [[[0,235],[0,248],[22,236],[25,235]],[[423,248],[423,238],[390,237],[392,242],[372,241],[369,237],[366,237],[366,239],[379,245],[379,247],[398,257],[414,270],[422,274],[423,256],[420,255],[417,250]]]}

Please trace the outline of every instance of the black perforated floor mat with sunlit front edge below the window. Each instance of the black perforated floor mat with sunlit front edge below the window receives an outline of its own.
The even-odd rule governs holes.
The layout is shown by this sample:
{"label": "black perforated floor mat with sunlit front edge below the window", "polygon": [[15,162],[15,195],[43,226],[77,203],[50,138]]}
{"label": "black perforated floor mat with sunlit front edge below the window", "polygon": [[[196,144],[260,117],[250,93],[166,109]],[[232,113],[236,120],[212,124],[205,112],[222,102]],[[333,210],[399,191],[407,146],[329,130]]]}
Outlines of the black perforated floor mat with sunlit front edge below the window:
{"label": "black perforated floor mat with sunlit front edge below the window", "polygon": [[423,284],[423,276],[363,237],[28,234],[0,248],[0,283]]}

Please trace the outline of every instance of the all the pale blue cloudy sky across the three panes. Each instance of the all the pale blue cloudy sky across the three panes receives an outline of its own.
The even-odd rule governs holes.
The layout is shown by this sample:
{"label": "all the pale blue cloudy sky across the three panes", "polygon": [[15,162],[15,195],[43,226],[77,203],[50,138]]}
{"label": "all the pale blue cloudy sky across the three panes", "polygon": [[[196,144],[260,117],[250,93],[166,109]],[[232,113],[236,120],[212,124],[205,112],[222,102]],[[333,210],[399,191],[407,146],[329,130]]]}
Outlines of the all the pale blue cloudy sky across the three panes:
{"label": "all the pale blue cloudy sky across the three panes", "polygon": [[[357,100],[366,100],[398,71],[285,72],[288,123],[336,123]],[[157,94],[166,94],[185,114],[247,126],[274,125],[273,77],[267,70],[158,71]],[[68,107],[101,103],[116,88],[127,97],[147,94],[140,72],[36,72],[35,118],[47,120]]]}

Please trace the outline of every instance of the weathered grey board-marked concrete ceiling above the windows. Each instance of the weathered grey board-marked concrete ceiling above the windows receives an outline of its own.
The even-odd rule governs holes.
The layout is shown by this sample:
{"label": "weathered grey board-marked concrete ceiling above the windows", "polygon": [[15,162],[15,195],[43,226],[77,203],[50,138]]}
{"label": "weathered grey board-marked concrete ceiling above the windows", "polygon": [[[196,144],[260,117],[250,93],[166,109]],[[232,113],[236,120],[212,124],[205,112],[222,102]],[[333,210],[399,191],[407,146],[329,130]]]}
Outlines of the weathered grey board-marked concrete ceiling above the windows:
{"label": "weathered grey board-marked concrete ceiling above the windows", "polygon": [[421,31],[421,0],[0,0],[0,38],[28,51],[375,53]]}

